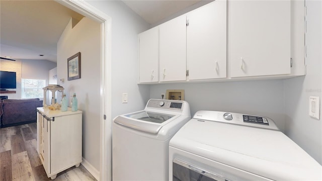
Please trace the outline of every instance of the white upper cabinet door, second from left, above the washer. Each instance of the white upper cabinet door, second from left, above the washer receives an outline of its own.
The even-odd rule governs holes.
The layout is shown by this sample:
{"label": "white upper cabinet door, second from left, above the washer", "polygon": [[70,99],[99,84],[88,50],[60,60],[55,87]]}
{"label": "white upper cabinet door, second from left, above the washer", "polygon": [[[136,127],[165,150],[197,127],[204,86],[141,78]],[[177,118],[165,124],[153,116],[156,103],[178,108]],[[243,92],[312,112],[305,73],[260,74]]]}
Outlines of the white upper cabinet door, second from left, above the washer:
{"label": "white upper cabinet door, second from left, above the washer", "polygon": [[186,80],[186,16],[159,26],[160,81]]}

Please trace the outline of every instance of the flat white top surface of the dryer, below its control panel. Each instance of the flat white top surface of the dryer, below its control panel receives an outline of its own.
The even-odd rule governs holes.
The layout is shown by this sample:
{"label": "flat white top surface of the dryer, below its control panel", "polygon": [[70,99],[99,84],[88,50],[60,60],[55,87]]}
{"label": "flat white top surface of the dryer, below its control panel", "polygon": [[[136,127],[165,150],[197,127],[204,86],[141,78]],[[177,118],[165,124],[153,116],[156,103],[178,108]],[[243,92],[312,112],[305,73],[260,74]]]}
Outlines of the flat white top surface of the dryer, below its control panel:
{"label": "flat white top surface of the dryer, below its control panel", "polygon": [[321,165],[278,130],[192,119],[170,146],[274,180],[321,179]]}

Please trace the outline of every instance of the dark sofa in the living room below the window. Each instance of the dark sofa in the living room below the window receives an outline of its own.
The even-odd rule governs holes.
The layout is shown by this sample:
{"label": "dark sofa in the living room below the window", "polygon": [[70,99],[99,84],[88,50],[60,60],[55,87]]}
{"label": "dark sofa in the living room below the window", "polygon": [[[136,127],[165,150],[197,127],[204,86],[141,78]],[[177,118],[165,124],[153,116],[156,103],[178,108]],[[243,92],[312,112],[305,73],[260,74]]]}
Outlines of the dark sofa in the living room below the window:
{"label": "dark sofa in the living room below the window", "polygon": [[42,106],[42,101],[40,101],[39,98],[26,100],[1,100],[1,127],[36,122],[36,109]]}

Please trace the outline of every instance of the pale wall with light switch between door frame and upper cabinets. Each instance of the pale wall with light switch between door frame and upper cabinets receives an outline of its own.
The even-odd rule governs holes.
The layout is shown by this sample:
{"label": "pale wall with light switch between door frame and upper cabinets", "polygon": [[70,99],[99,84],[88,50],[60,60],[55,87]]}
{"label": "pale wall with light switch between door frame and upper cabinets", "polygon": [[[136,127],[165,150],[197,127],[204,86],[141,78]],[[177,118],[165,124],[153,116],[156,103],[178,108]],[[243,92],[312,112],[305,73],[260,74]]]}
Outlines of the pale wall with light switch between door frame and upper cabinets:
{"label": "pale wall with light switch between door frame and upper cabinets", "polygon": [[[121,1],[87,1],[112,18],[112,118],[142,110],[149,99],[149,85],[138,85],[137,34],[149,28]],[[109,46],[109,45],[107,45]],[[122,104],[122,93],[128,103]]]}

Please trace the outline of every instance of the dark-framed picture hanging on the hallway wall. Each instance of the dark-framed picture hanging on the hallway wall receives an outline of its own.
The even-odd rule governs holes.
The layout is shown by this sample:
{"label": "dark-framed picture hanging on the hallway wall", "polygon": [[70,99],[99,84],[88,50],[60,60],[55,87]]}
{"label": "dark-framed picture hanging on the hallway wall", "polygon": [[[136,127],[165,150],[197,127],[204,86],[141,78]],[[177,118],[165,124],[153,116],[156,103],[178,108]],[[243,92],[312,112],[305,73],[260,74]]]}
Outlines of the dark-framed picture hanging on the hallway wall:
{"label": "dark-framed picture hanging on the hallway wall", "polygon": [[67,79],[74,80],[77,78],[81,78],[81,52],[67,59]]}

